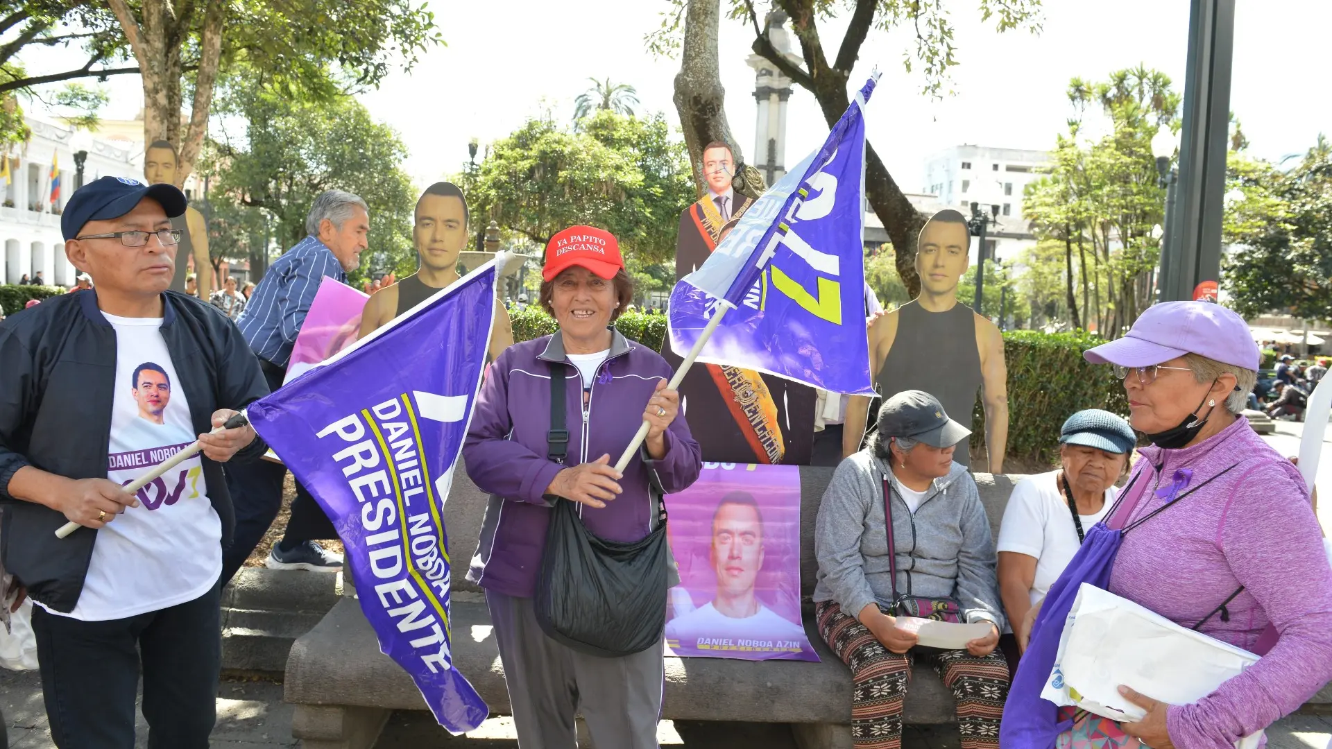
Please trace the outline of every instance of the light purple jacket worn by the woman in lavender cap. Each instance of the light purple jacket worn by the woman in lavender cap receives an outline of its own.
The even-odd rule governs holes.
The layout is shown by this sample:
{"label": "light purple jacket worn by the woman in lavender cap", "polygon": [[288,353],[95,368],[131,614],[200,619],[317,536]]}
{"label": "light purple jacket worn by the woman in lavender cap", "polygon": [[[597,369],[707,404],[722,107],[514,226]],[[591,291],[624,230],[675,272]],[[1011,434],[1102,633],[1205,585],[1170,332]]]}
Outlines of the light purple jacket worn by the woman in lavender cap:
{"label": "light purple jacket worn by the woman in lavender cap", "polygon": [[1225,620],[1213,616],[1200,632],[1249,650],[1269,622],[1280,633],[1252,668],[1167,713],[1179,749],[1229,749],[1332,680],[1332,568],[1319,521],[1299,470],[1243,416],[1196,445],[1140,452],[1139,481],[1150,496],[1134,518],[1166,504],[1151,494],[1158,481],[1162,489],[1180,486],[1179,505],[1124,536],[1110,592],[1193,626],[1243,585]]}

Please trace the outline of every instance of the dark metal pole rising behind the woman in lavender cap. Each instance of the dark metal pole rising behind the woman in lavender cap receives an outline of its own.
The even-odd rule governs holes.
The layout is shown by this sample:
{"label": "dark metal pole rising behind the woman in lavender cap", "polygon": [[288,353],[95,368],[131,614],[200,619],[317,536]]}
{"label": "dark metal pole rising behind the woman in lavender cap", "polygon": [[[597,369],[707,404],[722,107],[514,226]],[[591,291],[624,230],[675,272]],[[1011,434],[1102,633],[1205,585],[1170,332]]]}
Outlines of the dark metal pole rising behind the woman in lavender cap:
{"label": "dark metal pole rising behind the woman in lavender cap", "polygon": [[1192,300],[1199,283],[1217,280],[1221,265],[1235,0],[1192,0],[1191,7],[1179,196],[1166,229],[1173,245],[1166,301]]}

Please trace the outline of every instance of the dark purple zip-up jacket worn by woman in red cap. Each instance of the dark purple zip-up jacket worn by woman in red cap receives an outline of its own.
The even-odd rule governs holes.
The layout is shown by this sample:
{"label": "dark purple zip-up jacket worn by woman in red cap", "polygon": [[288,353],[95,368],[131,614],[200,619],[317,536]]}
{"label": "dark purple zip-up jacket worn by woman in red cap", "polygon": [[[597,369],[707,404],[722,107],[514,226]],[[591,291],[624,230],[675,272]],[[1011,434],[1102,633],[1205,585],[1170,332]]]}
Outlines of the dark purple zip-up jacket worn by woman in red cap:
{"label": "dark purple zip-up jacket worn by woman in red cap", "polygon": [[[565,368],[566,377],[569,453],[562,465],[546,457],[551,367]],[[670,376],[670,365],[657,352],[611,329],[610,355],[597,371],[585,416],[582,377],[565,357],[559,333],[514,344],[500,355],[481,386],[462,446],[468,476],[490,493],[468,580],[506,596],[533,596],[550,524],[546,486],[565,468],[603,454],[611,462],[619,458],[643,422],[657,381]],[[646,460],[646,450],[639,450],[629,462],[619,481],[622,494],[605,508],[579,505],[587,530],[611,541],[638,541],[653,529],[649,473],[657,473],[667,494],[698,478],[702,453],[683,414],[665,438],[663,458]]]}

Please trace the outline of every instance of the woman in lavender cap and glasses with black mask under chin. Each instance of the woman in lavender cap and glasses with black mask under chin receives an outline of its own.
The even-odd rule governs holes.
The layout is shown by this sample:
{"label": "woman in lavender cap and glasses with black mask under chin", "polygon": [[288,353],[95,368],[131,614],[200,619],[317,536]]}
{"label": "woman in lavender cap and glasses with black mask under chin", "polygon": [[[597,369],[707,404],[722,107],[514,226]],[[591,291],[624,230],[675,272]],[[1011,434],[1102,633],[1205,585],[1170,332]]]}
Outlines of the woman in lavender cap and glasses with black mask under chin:
{"label": "woman in lavender cap and glasses with black mask under chin", "polygon": [[[1332,566],[1309,490],[1237,414],[1256,381],[1248,325],[1211,303],[1148,308],[1128,335],[1086,353],[1124,380],[1142,448],[1108,518],[1050,589],[1004,709],[1006,749],[1221,749],[1295,712],[1332,680]],[[1039,698],[1078,586],[1118,596],[1261,656],[1189,705],[1139,694],[1115,724]],[[1043,673],[1042,673],[1043,669]]]}

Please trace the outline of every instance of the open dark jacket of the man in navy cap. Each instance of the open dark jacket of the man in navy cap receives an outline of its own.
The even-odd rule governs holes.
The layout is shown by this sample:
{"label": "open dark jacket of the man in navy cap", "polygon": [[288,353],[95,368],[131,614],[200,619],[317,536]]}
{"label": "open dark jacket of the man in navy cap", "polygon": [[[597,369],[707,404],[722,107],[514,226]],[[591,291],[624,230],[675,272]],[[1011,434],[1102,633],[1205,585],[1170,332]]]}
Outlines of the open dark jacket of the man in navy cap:
{"label": "open dark jacket of the man in navy cap", "polygon": [[[163,299],[161,333],[196,433],[212,429],[214,410],[268,394],[258,360],[225,315],[178,292]],[[79,602],[97,532],[80,528],[56,538],[65,516],[15,498],[9,480],[25,465],[105,478],[115,380],[116,329],[92,289],[47,299],[0,323],[0,558],[33,600],[57,612]],[[256,438],[232,460],[256,460],[265,449]],[[221,466],[200,458],[225,549],[236,525],[232,500]]]}

